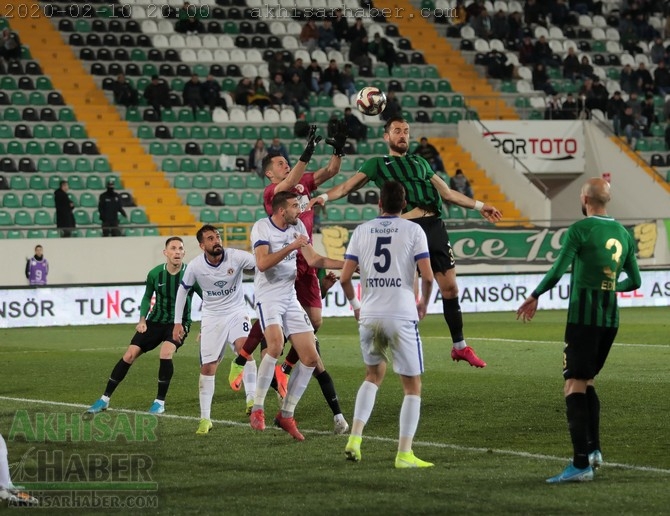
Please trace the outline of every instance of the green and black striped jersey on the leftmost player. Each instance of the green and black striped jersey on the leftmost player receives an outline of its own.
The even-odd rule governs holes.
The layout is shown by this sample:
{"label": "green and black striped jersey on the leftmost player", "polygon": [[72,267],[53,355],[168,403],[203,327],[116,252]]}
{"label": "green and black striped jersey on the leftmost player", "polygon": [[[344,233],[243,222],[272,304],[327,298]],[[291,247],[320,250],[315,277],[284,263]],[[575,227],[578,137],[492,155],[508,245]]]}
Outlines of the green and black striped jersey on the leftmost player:
{"label": "green and black striped jersey on the leftmost player", "polygon": [[[147,321],[173,324],[174,323],[174,305],[177,299],[177,290],[184,276],[186,265],[181,266],[177,274],[170,274],[166,264],[157,265],[147,274],[146,289],[140,305],[140,316],[146,317]],[[193,292],[201,295],[200,287],[196,284],[188,293],[184,314],[182,317],[183,325],[188,328],[191,325],[191,299]],[[151,307],[151,298],[156,293],[156,302]],[[151,308],[151,312],[149,312]],[[147,315],[148,314],[148,315]]]}

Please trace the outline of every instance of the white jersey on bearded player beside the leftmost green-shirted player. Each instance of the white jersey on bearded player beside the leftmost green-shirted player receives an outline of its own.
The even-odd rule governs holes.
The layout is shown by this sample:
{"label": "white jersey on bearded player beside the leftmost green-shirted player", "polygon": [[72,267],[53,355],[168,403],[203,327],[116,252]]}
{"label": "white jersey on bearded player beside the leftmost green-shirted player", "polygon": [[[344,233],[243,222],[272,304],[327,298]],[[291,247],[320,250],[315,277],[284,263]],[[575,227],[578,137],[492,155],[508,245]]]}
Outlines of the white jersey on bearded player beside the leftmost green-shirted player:
{"label": "white jersey on bearded player beside the leftmost green-shirted player", "polygon": [[255,267],[254,256],[240,249],[224,249],[223,260],[218,265],[209,263],[203,253],[190,261],[181,284],[186,290],[195,282],[200,285],[203,317],[230,315],[245,309],[242,273]]}

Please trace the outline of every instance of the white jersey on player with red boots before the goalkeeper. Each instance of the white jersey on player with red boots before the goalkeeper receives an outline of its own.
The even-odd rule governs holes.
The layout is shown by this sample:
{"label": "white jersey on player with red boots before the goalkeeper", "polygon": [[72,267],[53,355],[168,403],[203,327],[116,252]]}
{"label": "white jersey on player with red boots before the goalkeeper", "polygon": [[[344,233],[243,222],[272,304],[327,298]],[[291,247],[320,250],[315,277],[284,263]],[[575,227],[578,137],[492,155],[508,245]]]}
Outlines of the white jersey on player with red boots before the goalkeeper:
{"label": "white jersey on player with red boots before the goalkeeper", "polygon": [[[272,218],[266,217],[256,222],[251,229],[251,247],[256,249],[259,245],[267,245],[269,246],[269,253],[276,253],[290,245],[299,235],[305,235],[309,238],[307,228],[300,219],[295,226],[280,229],[274,225]],[[281,303],[282,300],[296,297],[297,256],[298,251],[293,251],[265,272],[256,271],[254,276],[256,303],[259,301]]]}

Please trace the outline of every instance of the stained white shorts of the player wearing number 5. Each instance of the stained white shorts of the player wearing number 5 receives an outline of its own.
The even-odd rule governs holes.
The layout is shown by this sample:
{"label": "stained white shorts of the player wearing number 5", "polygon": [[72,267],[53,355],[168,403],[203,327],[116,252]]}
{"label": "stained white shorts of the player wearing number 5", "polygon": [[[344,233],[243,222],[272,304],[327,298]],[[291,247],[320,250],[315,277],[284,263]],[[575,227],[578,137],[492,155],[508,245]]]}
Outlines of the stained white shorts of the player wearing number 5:
{"label": "stained white shorts of the player wearing number 5", "polygon": [[361,319],[358,333],[365,365],[378,365],[391,358],[397,374],[419,376],[423,373],[418,321]]}

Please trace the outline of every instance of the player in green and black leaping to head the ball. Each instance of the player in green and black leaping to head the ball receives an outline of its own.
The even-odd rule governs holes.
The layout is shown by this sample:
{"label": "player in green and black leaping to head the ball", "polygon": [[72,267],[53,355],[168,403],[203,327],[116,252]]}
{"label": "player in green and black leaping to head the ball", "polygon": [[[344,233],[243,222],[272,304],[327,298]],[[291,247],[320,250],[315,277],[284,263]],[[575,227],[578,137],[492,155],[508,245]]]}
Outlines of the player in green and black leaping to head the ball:
{"label": "player in green and black leaping to head the ball", "polygon": [[408,154],[409,124],[403,118],[390,118],[384,126],[384,140],[388,143],[386,156],[367,160],[361,169],[344,183],[328,190],[310,201],[323,204],[328,200],[344,197],[373,181],[380,189],[387,181],[398,181],[405,187],[407,207],[403,217],[421,226],[428,237],[430,266],[442,295],[442,311],[449,326],[453,360],[465,360],[475,367],[485,367],[463,338],[463,317],[458,302],[456,262],[449,242],[449,234],[442,221],[442,200],[480,211],[490,222],[500,220],[502,214],[495,207],[475,201],[449,188],[421,156]]}

